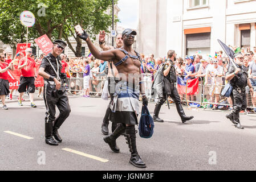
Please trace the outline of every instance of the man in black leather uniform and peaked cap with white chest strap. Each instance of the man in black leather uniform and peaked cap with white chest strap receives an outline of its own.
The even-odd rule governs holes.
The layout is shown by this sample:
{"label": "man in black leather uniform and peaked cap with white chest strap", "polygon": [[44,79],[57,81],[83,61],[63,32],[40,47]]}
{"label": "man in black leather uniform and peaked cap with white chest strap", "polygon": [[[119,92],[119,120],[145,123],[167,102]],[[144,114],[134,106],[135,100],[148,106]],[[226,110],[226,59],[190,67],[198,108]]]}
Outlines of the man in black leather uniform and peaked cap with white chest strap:
{"label": "man in black leather uniform and peaked cap with white chest strap", "polygon": [[[45,142],[52,146],[58,146],[62,138],[58,129],[70,115],[70,104],[63,80],[66,79],[61,73],[62,62],[59,57],[67,44],[63,40],[55,40],[48,55],[44,56],[39,68],[39,75],[44,78],[43,100],[46,105]],[[55,118],[55,107],[59,109],[59,115]],[[58,141],[58,142],[57,142]]]}

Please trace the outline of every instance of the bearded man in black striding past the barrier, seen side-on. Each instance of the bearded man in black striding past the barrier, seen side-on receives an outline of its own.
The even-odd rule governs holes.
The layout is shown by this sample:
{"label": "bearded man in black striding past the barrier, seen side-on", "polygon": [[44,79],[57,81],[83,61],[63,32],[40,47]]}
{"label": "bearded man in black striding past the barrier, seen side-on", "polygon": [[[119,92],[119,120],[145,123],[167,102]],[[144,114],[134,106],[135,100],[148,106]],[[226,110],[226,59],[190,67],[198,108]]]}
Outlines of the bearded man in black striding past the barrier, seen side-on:
{"label": "bearded man in black striding past the barrier, seen side-on", "polygon": [[182,123],[185,123],[186,121],[189,121],[190,119],[193,119],[193,116],[186,116],[185,112],[181,105],[181,99],[180,95],[178,94],[178,90],[174,83],[177,81],[176,71],[174,68],[174,61],[176,61],[176,53],[173,50],[168,51],[168,60],[164,64],[164,94],[162,96],[159,96],[159,101],[156,104],[154,114],[153,114],[153,120],[155,122],[164,122],[163,119],[159,118],[159,112],[161,109],[161,106],[166,101],[166,98],[170,96],[172,100],[176,104],[176,108],[178,111],[178,114],[181,117]]}

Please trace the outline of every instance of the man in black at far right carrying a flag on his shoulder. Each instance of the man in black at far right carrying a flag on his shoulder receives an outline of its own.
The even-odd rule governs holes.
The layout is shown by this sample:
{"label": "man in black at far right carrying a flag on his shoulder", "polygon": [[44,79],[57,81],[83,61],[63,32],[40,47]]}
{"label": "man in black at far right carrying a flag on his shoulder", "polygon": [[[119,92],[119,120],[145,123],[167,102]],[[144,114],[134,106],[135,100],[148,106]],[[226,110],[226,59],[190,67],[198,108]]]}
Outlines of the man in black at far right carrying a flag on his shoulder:
{"label": "man in black at far right carrying a flag on his shoulder", "polygon": [[251,82],[248,80],[248,73],[246,67],[243,65],[243,59],[244,57],[241,52],[235,54],[234,62],[229,64],[226,73],[226,80],[230,81],[231,86],[233,86],[230,95],[233,102],[233,110],[230,114],[226,115],[226,118],[230,119],[237,129],[244,129],[240,123],[239,113],[247,107],[245,89],[247,85],[250,88],[250,93],[253,94],[253,86],[251,86]]}

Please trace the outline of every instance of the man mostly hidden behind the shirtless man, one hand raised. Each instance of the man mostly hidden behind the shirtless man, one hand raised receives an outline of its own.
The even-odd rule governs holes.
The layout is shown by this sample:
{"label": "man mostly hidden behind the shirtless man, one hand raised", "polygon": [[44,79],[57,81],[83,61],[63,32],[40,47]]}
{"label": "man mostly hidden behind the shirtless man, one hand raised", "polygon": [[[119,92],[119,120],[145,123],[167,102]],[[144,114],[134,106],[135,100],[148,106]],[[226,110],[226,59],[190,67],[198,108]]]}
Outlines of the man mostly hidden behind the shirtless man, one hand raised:
{"label": "man mostly hidden behind the shirtless man, one hand raised", "polygon": [[[103,49],[103,51],[108,51],[110,49],[119,49],[121,47],[123,47],[123,40],[122,40],[122,36],[119,34],[117,35],[116,38],[116,46],[107,46],[104,44],[105,43],[105,31],[100,31],[100,35],[99,35],[99,45],[100,48]],[[110,69],[109,69],[110,68]],[[113,73],[114,75],[113,75]],[[108,92],[110,95],[110,102],[108,104],[107,110],[105,111],[105,116],[103,118],[103,122],[101,124],[101,132],[104,135],[108,135],[108,125],[109,125],[109,120],[112,122],[112,126],[111,126],[111,130],[112,132],[115,131],[117,125],[115,122],[113,122],[113,117],[111,117],[111,102],[113,101],[113,93],[110,93],[110,88],[111,86],[115,86],[115,85],[110,85],[111,83],[111,79],[115,78],[117,75],[115,74],[115,72],[117,72],[115,65],[113,65],[113,61],[109,60],[108,61],[108,65],[105,68],[105,73],[108,75],[107,79],[108,79]]]}

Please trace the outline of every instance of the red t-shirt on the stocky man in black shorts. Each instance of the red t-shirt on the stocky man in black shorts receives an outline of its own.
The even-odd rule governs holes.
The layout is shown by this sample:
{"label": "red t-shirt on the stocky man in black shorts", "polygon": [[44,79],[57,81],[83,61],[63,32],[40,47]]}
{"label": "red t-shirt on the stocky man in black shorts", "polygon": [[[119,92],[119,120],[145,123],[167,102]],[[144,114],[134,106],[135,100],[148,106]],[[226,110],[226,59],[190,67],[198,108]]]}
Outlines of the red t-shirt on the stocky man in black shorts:
{"label": "red t-shirt on the stocky man in black shorts", "polygon": [[[26,57],[23,57],[19,61],[19,66],[25,64],[26,62]],[[21,69],[21,76],[23,77],[34,77],[35,76],[35,71],[34,68],[36,67],[35,65],[35,60],[32,59],[31,57],[27,57],[27,65]]]}

